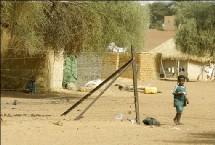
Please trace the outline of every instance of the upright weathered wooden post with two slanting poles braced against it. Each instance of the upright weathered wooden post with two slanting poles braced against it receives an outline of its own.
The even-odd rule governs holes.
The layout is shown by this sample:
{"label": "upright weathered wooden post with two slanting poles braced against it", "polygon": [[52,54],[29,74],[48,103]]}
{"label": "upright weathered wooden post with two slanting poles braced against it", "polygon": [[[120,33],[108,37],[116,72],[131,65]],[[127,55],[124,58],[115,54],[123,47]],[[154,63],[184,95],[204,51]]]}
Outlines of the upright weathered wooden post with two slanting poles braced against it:
{"label": "upright weathered wooden post with two slanting poles braced against it", "polygon": [[140,115],[139,115],[139,100],[138,100],[138,91],[137,91],[137,70],[136,70],[136,58],[135,50],[131,46],[131,56],[132,56],[132,69],[133,69],[133,86],[134,86],[134,103],[135,103],[135,112],[136,112],[136,122],[140,124]]}

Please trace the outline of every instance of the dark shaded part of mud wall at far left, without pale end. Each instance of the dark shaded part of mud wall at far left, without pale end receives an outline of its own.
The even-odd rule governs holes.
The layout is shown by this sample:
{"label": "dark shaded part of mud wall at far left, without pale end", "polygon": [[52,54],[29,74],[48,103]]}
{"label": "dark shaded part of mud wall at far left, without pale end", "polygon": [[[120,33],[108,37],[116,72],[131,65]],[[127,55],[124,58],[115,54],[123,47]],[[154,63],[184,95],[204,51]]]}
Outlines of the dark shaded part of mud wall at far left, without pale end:
{"label": "dark shaded part of mud wall at far left, without pale end", "polygon": [[23,90],[29,79],[36,76],[37,90],[47,88],[46,57],[26,57],[15,55],[13,51],[1,62],[1,89],[2,90]]}

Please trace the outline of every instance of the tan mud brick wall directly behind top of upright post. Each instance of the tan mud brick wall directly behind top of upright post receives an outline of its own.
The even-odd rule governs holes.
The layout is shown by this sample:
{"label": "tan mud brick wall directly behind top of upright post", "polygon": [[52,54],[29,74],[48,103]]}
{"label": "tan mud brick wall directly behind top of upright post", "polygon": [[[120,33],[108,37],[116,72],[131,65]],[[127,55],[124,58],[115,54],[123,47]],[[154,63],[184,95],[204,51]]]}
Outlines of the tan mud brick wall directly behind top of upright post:
{"label": "tan mud brick wall directly behind top of upright post", "polygon": [[[160,72],[160,54],[154,53],[136,53],[136,67],[138,80],[155,80],[159,79]],[[118,59],[118,60],[117,60]],[[130,53],[111,53],[107,57],[108,64],[111,62],[112,73],[120,68],[131,59]],[[118,66],[117,66],[118,64]],[[133,78],[132,66],[130,66],[122,75],[123,78]]]}

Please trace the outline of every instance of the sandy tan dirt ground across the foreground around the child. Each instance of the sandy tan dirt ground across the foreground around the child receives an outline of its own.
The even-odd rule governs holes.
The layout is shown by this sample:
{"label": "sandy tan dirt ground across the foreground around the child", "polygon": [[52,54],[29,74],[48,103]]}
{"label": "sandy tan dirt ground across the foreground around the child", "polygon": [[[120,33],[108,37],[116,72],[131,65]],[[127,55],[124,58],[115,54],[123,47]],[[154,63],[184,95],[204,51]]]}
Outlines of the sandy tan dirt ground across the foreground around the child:
{"label": "sandy tan dirt ground across the foreground around the child", "polygon": [[[119,79],[116,83],[132,84]],[[139,92],[140,125],[135,119],[133,92],[112,85],[84,114],[73,119],[100,92],[92,95],[66,116],[60,116],[86,92],[60,91],[50,94],[1,92],[2,145],[167,145],[215,144],[215,82],[186,82],[190,104],[184,108],[182,123],[175,125],[173,96],[175,81],[154,80],[138,85],[158,87],[162,93]],[[16,101],[15,101],[16,100]],[[14,102],[15,101],[15,102]],[[123,114],[123,120],[116,120]],[[142,123],[146,117],[161,126]],[[57,124],[58,123],[58,124]]]}

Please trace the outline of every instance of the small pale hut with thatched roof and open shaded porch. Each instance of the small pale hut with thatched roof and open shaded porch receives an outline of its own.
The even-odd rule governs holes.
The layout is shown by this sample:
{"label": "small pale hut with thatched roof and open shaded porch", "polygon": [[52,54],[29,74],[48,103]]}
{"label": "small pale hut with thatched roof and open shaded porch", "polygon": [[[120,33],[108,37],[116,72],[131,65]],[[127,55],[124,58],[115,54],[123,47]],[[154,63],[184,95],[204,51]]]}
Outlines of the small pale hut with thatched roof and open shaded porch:
{"label": "small pale hut with thatched roof and open shaded porch", "polygon": [[152,53],[161,53],[161,78],[176,78],[183,74],[189,80],[206,79],[207,62],[209,57],[196,57],[184,54],[176,49],[173,38],[150,50]]}

